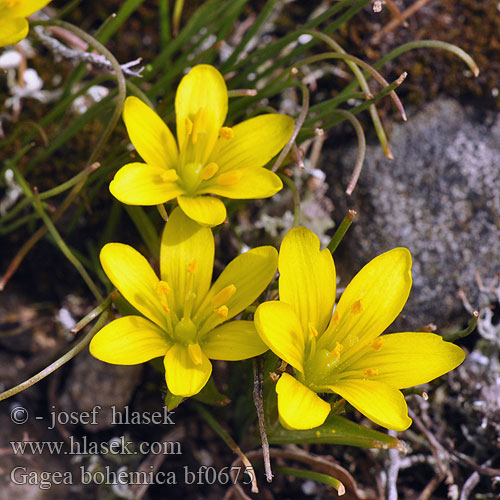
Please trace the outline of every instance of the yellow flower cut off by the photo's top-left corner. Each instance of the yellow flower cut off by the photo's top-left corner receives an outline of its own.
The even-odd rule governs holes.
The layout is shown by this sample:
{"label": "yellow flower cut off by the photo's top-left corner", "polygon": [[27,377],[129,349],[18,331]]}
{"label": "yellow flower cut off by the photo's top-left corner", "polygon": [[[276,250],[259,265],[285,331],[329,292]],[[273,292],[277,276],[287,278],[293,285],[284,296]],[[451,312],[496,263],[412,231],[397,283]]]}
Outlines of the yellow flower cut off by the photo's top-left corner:
{"label": "yellow flower cut off by the photo's top-left corner", "polygon": [[50,0],[0,0],[0,47],[17,43],[28,34],[26,18]]}

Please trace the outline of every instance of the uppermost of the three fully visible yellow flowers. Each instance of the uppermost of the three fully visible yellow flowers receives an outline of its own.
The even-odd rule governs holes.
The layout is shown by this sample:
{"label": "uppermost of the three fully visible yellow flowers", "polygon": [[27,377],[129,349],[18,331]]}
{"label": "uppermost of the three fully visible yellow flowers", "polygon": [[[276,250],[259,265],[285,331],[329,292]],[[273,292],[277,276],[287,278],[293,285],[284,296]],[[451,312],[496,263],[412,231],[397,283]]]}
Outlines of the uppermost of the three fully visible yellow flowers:
{"label": "uppermost of the three fully visible yellow flowers", "polygon": [[177,143],[167,125],[136,97],[125,102],[123,119],[130,140],[145,163],[129,163],[109,190],[129,205],[157,205],[177,198],[191,219],[207,226],[226,218],[221,200],[267,198],[282,187],[262,168],[290,139],[293,120],[267,114],[233,128],[223,127],[228,95],[222,75],[209,65],[195,66],[175,97]]}

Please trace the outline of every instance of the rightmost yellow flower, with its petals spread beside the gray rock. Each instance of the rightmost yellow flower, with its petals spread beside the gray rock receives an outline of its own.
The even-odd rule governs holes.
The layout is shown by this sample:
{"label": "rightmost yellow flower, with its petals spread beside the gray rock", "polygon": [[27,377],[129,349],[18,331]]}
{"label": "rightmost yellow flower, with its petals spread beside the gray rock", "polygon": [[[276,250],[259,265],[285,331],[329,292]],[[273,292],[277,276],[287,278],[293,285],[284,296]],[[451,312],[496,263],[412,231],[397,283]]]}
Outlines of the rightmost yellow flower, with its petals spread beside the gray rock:
{"label": "rightmost yellow flower, with its petals spread beside the gray rock", "polygon": [[281,423],[312,429],[330,413],[317,393],[335,393],[379,425],[411,425],[400,389],[457,367],[458,346],[432,333],[380,336],[401,312],[411,288],[411,256],[395,248],[369,262],[335,304],[335,266],[319,239],[303,227],[287,233],[279,254],[280,300],[261,304],[262,340],[293,366],[276,385]]}

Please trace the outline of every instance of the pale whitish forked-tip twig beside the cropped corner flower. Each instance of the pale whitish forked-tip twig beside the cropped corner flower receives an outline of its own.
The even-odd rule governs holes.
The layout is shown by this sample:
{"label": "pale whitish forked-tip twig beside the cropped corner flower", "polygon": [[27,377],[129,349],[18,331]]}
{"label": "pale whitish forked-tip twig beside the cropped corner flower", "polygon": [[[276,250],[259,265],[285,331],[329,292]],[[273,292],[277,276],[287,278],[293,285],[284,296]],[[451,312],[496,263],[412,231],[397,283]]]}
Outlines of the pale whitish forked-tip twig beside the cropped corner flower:
{"label": "pale whitish forked-tip twig beside the cropped corner flower", "polygon": [[[70,61],[78,61],[78,62],[86,62],[92,64],[97,68],[105,69],[109,72],[113,72],[113,66],[108,61],[108,59],[102,54],[94,54],[92,52],[84,52],[81,50],[70,49],[66,47],[63,43],[61,43],[56,38],[53,38],[47,33],[45,33],[44,29],[41,26],[35,26],[33,28],[33,33],[40,40],[40,42],[45,45],[51,52],[62,57],[63,59],[69,59]],[[141,73],[144,70],[144,67],[141,67],[137,70],[132,70],[131,68],[138,66],[142,62],[142,58],[139,57],[134,61],[130,61],[128,63],[120,65],[121,70],[127,76],[138,76],[141,77]]]}

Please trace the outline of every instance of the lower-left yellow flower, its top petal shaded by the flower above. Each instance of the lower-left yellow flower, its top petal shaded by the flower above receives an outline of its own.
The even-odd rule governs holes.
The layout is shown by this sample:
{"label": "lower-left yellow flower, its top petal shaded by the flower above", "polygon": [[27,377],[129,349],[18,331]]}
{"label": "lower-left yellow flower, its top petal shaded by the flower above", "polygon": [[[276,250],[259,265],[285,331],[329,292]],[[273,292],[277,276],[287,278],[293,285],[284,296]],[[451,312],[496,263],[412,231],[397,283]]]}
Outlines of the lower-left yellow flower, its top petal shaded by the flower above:
{"label": "lower-left yellow flower, its top petal shaded by the flower above", "polygon": [[164,356],[169,391],[189,397],[209,379],[209,358],[237,361],[267,350],[253,321],[226,321],[248,307],[271,281],[278,261],[274,248],[239,255],[210,286],[212,232],[176,208],[162,236],[161,280],[128,245],[109,243],[100,258],[111,282],[144,316],[125,316],[100,330],[90,343],[96,358],[133,365]]}

